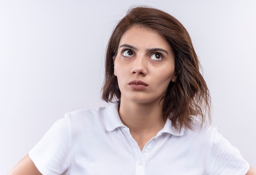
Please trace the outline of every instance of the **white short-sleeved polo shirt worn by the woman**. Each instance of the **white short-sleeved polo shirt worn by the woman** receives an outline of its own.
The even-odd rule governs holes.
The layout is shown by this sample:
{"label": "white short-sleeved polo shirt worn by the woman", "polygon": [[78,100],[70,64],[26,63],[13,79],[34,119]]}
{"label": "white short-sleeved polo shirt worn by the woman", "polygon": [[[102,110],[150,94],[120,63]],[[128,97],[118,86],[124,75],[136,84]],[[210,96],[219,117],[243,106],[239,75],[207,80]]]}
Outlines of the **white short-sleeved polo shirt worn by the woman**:
{"label": "white short-sleeved polo shirt worn by the woman", "polygon": [[[43,175],[245,175],[249,164],[216,128],[179,133],[167,120],[141,151],[118,114],[79,110],[58,120],[29,152]],[[199,127],[198,127],[199,128]]]}

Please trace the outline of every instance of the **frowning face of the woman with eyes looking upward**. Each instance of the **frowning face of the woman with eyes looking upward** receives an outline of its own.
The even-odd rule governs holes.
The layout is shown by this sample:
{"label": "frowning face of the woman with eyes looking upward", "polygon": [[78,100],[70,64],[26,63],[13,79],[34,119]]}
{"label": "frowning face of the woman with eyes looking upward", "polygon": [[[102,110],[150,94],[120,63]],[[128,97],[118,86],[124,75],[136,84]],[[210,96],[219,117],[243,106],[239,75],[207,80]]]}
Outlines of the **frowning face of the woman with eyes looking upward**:
{"label": "frowning face of the woman with eyes looking upward", "polygon": [[157,31],[130,28],[121,37],[113,59],[121,101],[159,102],[168,84],[176,81],[173,51]]}

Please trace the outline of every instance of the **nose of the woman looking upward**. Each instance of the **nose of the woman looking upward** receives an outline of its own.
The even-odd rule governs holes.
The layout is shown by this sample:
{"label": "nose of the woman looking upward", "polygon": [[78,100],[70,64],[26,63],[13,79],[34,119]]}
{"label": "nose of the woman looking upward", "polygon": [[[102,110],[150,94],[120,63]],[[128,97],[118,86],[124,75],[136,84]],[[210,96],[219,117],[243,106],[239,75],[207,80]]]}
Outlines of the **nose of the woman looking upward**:
{"label": "nose of the woman looking upward", "polygon": [[147,74],[147,62],[143,56],[137,56],[132,64],[131,73],[133,75],[146,75]]}

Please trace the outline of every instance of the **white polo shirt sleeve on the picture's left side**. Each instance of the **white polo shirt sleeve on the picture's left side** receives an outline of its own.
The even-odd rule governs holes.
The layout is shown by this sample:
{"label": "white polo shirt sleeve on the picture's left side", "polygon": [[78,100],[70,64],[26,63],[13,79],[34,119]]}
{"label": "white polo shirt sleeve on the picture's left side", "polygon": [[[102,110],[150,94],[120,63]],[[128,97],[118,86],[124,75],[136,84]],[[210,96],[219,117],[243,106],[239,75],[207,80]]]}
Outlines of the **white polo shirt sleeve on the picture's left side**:
{"label": "white polo shirt sleeve on the picture's left side", "polygon": [[29,151],[29,157],[43,175],[66,175],[71,159],[71,130],[68,114],[57,120]]}

